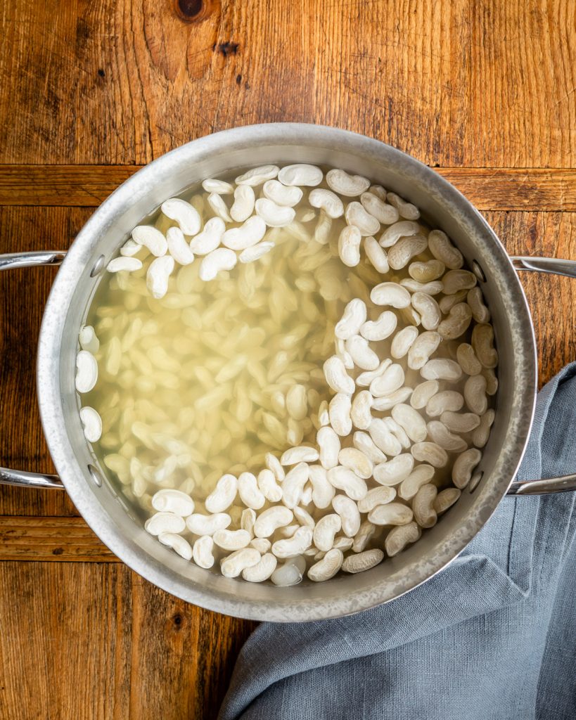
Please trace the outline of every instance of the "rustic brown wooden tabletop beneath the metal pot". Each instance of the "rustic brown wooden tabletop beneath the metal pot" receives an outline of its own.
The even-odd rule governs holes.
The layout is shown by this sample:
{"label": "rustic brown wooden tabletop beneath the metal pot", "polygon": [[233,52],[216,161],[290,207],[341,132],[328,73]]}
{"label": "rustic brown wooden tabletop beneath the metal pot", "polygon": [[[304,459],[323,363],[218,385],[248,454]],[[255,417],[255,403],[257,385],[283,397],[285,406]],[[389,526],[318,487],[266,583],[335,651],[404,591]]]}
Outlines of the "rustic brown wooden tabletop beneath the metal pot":
{"label": "rustic brown wooden tabletop beneath the metal pot", "polygon": [[[576,258],[575,12],[570,0],[3,3],[0,249],[67,248],[143,163],[291,120],[433,166],[510,253]],[[0,276],[0,463],[45,472],[34,356],[54,273]],[[576,359],[576,284],[523,283],[544,382]],[[0,487],[0,717],[215,717],[253,624],[153,588],[76,516],[63,493]]]}

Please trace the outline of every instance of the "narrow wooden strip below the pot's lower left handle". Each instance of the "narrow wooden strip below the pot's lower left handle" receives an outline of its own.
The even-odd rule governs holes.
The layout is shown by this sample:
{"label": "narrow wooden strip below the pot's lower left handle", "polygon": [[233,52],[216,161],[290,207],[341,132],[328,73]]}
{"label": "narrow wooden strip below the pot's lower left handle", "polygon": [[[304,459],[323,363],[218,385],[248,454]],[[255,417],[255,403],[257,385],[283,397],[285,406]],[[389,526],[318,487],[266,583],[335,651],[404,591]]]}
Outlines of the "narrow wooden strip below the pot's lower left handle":
{"label": "narrow wooden strip below the pot's lower left handle", "polygon": [[0,561],[120,562],[82,518],[0,516]]}

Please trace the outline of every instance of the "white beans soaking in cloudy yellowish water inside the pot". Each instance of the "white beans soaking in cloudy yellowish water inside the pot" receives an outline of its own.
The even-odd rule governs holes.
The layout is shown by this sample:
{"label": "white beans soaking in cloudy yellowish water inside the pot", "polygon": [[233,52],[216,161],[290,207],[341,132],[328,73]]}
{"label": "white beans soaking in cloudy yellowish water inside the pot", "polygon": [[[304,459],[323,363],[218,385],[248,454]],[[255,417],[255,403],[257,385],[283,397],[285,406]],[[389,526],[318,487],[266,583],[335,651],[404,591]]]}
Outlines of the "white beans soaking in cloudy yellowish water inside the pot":
{"label": "white beans soaking in cloudy yellowish water inside the pot", "polygon": [[84,433],[184,559],[283,586],[361,572],[480,480],[490,312],[397,194],[305,164],[207,179],[107,270]]}

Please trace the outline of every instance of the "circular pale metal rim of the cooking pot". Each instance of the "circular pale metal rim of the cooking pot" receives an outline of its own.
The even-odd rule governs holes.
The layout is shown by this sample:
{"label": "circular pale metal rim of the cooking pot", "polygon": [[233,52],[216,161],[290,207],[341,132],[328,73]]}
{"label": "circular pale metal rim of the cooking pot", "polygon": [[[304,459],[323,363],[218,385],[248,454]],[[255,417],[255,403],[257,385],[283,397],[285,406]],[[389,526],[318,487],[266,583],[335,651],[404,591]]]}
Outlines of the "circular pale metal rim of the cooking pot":
{"label": "circular pale metal rim of the cooking pot", "polygon": [[[214,590],[189,582],[184,577],[174,577],[174,573],[169,568],[162,566],[151,558],[148,558],[148,562],[143,559],[141,557],[142,550],[135,541],[122,534],[122,528],[114,523],[109,513],[102,508],[99,502],[95,502],[94,488],[89,487],[86,480],[84,480],[84,471],[76,459],[73,446],[68,438],[60,392],[60,348],[67,315],[66,312],[63,312],[63,308],[67,310],[71,304],[80,269],[86,265],[91,257],[91,246],[94,238],[99,232],[102,232],[102,228],[109,227],[114,220],[114,215],[122,210],[126,202],[129,202],[132,197],[138,195],[138,192],[142,192],[146,187],[155,184],[158,176],[163,177],[170,174],[174,162],[179,165],[181,163],[193,163],[199,153],[202,154],[202,157],[208,153],[223,153],[232,146],[237,147],[238,143],[244,143],[245,145],[254,143],[305,144],[310,146],[325,145],[326,147],[328,145],[338,145],[338,147],[343,147],[344,150],[349,150],[351,153],[356,150],[357,154],[361,145],[364,153],[369,151],[375,156],[385,155],[397,163],[400,163],[400,161],[405,163],[408,165],[411,174],[418,175],[420,179],[425,179],[430,184],[431,189],[434,189],[434,192],[443,195],[452,204],[456,205],[469,222],[473,222],[476,226],[482,225],[483,232],[490,235],[491,240],[494,242],[495,253],[500,252],[499,260],[502,263],[502,271],[506,274],[506,278],[511,279],[512,284],[516,283],[512,288],[514,302],[518,312],[523,315],[520,318],[523,333],[519,333],[517,338],[520,344],[518,351],[519,356],[523,357],[525,361],[521,373],[527,384],[526,392],[513,400],[513,409],[517,415],[514,431],[516,437],[521,439],[516,441],[516,446],[510,449],[507,454],[503,453],[506,456],[501,461],[502,472],[497,479],[498,482],[495,480],[490,487],[482,491],[482,505],[479,506],[474,516],[467,518],[466,525],[460,528],[457,541],[453,539],[450,544],[444,543],[441,552],[438,552],[425,567],[420,567],[420,572],[405,577],[401,582],[397,582],[392,595],[390,594],[389,580],[376,580],[369,590],[365,588],[352,590],[346,595],[331,598],[330,600],[311,599],[305,597],[305,593],[300,593],[300,597],[294,595],[294,598],[278,600],[273,604],[260,600],[245,600],[233,593],[215,593]],[[526,332],[528,327],[529,332]],[[68,251],[55,278],[45,307],[38,343],[37,390],[42,427],[50,454],[66,487],[66,491],[86,523],[122,562],[125,562],[132,570],[135,570],[135,572],[138,572],[168,593],[213,611],[256,620],[307,621],[343,616],[400,597],[429,580],[458,557],[490,518],[511,482],[513,482],[521,463],[534,418],[536,367],[534,327],[526,296],[516,276],[516,271],[513,269],[510,258],[494,230],[490,228],[490,225],[480,215],[480,212],[459,190],[428,166],[401,150],[381,143],[379,140],[367,138],[364,135],[348,130],[323,125],[269,123],[223,130],[181,145],[179,148],[171,150],[141,168],[122,183],[96,209],[73,241],[70,251]],[[480,502],[480,498],[477,498],[477,500]],[[140,554],[138,550],[140,550]]]}

